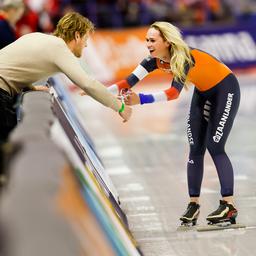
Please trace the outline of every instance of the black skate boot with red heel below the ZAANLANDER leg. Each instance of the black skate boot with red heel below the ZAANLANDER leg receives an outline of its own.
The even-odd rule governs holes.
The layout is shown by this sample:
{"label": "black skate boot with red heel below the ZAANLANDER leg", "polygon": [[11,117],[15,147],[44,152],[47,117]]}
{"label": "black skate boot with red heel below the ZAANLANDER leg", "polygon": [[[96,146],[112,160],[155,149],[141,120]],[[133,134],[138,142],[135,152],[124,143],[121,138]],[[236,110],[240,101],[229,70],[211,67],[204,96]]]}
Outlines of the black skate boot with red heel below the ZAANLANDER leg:
{"label": "black skate boot with red heel below the ZAANLANDER leg", "polygon": [[209,221],[208,224],[220,224],[229,223],[236,224],[237,210],[232,205],[224,200],[220,200],[220,205],[218,209],[211,214],[209,214],[206,220]]}

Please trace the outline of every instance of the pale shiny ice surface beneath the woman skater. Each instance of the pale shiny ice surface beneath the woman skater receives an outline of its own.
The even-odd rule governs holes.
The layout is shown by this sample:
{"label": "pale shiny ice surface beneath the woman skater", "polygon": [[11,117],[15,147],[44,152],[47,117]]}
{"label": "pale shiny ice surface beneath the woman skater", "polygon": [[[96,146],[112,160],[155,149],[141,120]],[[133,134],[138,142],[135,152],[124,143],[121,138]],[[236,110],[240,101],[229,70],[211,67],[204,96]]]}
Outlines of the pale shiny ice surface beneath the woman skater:
{"label": "pale shiny ice surface beneath the woman skater", "polygon": [[[168,103],[135,106],[128,123],[88,96],[73,94],[121,200],[130,230],[145,256],[254,256],[256,251],[256,74],[239,75],[240,109],[226,146],[235,173],[237,222],[246,229],[177,231],[188,203],[186,119],[193,88]],[[168,83],[138,85],[157,91]],[[217,172],[209,154],[199,225],[218,207]]]}

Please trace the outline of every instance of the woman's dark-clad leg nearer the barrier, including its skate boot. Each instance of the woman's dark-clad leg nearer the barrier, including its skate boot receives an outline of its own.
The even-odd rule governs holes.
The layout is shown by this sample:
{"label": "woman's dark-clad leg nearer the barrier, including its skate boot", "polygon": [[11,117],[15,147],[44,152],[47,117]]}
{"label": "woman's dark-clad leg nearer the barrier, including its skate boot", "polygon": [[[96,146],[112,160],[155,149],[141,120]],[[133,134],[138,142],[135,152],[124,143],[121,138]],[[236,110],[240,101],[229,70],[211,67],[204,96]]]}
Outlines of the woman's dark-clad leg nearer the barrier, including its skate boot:
{"label": "woman's dark-clad leg nearer the barrier, including its skate boot", "polygon": [[187,123],[187,136],[190,145],[187,181],[190,202],[180,218],[182,225],[191,223],[195,225],[200,213],[199,196],[203,178],[204,153],[206,150],[207,120],[209,118],[207,108],[205,100],[202,99],[200,93],[195,89]]}

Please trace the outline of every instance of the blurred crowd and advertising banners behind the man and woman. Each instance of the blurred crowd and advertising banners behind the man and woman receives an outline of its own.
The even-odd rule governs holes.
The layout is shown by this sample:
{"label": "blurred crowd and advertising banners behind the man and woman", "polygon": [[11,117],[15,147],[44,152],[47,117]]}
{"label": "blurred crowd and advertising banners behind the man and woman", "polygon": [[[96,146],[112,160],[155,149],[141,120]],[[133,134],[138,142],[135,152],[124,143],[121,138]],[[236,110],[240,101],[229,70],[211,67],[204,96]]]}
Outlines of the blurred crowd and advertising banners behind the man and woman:
{"label": "blurred crowd and advertising banners behind the man and woman", "polygon": [[[174,23],[191,47],[212,53],[230,68],[255,65],[255,0],[1,1],[3,6],[24,3],[22,11],[8,10],[8,22],[15,34],[9,42],[14,36],[30,32],[51,33],[60,17],[70,11],[88,17],[95,24],[96,33],[85,50],[88,58],[84,60],[93,75],[107,84],[123,79],[148,55],[145,33],[156,20]],[[6,10],[2,10],[1,40],[7,37],[1,25],[6,17]]]}

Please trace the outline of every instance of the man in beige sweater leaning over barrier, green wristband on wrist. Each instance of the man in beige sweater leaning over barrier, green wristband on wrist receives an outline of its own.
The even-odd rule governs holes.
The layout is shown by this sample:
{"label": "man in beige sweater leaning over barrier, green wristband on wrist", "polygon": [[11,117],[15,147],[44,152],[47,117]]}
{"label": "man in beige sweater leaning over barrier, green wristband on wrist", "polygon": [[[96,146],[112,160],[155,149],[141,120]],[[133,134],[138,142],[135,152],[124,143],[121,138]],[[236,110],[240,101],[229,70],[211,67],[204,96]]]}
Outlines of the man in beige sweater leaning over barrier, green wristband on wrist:
{"label": "man in beige sweater leaning over barrier, green wristband on wrist", "polygon": [[44,90],[32,84],[55,73],[67,75],[89,96],[118,112],[124,122],[131,108],[116,99],[99,81],[91,78],[79,64],[94,25],[72,12],[63,16],[53,35],[30,33],[0,50],[0,142],[5,142],[16,126],[13,107],[16,96],[24,89]]}

